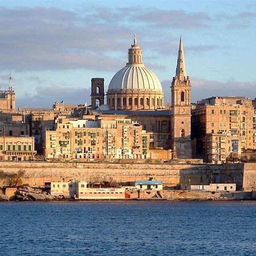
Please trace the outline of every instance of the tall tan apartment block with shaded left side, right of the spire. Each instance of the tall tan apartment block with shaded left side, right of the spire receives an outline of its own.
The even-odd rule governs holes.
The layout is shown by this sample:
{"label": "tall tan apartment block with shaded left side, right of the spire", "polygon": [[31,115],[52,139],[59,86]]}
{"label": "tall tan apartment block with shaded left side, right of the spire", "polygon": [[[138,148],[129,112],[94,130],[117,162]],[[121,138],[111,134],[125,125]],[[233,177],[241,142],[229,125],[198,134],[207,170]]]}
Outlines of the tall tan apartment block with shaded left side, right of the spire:
{"label": "tall tan apartment block with shaded left side, right of the spire", "polygon": [[253,101],[245,97],[211,97],[198,102],[191,114],[194,156],[221,163],[256,148]]}

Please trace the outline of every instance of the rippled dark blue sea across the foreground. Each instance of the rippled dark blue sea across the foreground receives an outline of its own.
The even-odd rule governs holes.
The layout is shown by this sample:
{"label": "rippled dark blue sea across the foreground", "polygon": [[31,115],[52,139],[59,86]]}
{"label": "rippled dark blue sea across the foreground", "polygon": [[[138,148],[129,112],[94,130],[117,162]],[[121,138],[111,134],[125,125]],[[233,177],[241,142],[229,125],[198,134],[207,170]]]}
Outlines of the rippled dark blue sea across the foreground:
{"label": "rippled dark blue sea across the foreground", "polygon": [[0,255],[256,255],[256,202],[0,203]]}

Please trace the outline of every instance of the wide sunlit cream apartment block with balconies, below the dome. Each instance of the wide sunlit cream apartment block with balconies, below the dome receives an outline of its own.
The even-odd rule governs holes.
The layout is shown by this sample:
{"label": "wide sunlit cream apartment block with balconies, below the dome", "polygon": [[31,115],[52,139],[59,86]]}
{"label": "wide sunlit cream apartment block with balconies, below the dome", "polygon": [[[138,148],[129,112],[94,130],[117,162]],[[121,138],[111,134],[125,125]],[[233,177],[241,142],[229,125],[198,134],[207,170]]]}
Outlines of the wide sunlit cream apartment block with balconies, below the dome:
{"label": "wide sunlit cream apartment block with balconies, below the dome", "polygon": [[131,119],[60,120],[45,132],[46,159],[146,159],[148,134]]}

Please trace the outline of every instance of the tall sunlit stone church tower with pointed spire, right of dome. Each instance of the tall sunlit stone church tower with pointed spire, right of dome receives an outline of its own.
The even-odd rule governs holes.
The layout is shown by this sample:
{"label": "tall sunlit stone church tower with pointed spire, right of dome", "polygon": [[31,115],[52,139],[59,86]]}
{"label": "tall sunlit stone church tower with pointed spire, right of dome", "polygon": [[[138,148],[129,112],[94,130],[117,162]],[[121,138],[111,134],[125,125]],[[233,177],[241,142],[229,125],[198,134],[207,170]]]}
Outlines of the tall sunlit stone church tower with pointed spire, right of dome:
{"label": "tall sunlit stone church tower with pointed spire, right of dome", "polygon": [[191,82],[186,73],[182,38],[180,36],[176,75],[172,79],[172,148],[177,158],[191,154]]}

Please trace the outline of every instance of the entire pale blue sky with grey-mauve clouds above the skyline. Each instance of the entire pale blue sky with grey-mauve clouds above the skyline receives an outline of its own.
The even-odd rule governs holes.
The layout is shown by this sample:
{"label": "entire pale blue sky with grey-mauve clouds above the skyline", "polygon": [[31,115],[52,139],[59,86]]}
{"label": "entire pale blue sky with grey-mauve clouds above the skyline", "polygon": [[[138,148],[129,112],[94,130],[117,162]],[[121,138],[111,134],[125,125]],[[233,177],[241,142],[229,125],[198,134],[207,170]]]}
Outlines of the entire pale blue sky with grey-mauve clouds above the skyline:
{"label": "entire pale blue sky with grey-mauve clouds above the skyline", "polygon": [[192,102],[256,97],[255,0],[0,1],[0,86],[16,107],[90,104],[90,80],[127,62],[137,34],[143,62],[171,99],[180,35]]}

